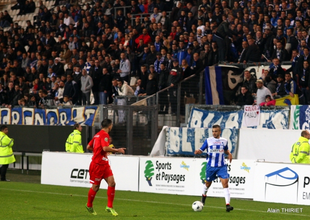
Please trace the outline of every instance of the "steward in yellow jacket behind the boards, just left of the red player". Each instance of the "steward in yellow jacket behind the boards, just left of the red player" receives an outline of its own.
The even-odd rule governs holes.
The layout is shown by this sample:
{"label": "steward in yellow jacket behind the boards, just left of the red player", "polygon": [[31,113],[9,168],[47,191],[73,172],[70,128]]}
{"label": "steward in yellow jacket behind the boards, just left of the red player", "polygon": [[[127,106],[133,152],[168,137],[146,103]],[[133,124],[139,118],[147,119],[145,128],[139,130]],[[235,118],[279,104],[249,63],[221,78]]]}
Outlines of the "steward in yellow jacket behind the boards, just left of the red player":
{"label": "steward in yellow jacket behind the boards, just left of the red player", "polygon": [[66,151],[73,153],[84,153],[82,146],[82,126],[80,124],[75,124],[73,126],[73,132],[69,135],[66,141]]}

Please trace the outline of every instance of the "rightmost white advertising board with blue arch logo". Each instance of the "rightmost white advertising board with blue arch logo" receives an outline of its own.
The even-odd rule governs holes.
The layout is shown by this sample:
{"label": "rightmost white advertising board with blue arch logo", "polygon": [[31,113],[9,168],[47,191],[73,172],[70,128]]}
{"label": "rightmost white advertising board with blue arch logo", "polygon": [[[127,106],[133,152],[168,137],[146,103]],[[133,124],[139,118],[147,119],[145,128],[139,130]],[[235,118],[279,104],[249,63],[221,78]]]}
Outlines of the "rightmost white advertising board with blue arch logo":
{"label": "rightmost white advertising board with blue arch logo", "polygon": [[310,205],[310,166],[258,162],[254,189],[255,201]]}

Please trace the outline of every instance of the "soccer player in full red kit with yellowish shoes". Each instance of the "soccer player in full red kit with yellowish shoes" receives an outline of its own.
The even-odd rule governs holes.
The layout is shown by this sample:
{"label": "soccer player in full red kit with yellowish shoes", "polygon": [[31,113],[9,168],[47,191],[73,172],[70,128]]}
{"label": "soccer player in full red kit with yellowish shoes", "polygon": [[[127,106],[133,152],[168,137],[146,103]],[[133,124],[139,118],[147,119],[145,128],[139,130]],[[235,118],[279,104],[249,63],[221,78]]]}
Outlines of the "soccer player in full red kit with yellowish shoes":
{"label": "soccer player in full red kit with yellowish shoes", "polygon": [[113,208],[115,181],[107,156],[109,152],[124,154],[126,148],[114,149],[109,147],[109,132],[112,130],[112,121],[110,119],[103,120],[101,122],[101,128],[102,130],[96,133],[87,145],[87,150],[93,151],[93,157],[89,166],[89,181],[92,183],[92,187],[88,191],[88,201],[85,206],[90,214],[97,215],[93,208],[93,201],[99,190],[101,180],[104,179],[108,183],[108,205],[106,211],[112,213],[113,216],[117,216],[118,214]]}

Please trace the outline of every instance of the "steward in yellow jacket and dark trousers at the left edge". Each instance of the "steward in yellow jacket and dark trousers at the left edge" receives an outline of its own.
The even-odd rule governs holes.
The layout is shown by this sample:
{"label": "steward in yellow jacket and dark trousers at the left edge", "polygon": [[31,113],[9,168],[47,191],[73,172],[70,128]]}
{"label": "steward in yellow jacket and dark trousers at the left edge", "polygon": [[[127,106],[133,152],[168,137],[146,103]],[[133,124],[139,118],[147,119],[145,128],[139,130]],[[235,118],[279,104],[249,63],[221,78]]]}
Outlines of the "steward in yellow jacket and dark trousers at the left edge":
{"label": "steward in yellow jacket and dark trousers at the left edge", "polygon": [[8,130],[5,125],[0,127],[0,176],[1,181],[10,181],[5,178],[6,170],[8,165],[15,162],[15,157],[13,155],[12,146],[14,140],[7,136]]}

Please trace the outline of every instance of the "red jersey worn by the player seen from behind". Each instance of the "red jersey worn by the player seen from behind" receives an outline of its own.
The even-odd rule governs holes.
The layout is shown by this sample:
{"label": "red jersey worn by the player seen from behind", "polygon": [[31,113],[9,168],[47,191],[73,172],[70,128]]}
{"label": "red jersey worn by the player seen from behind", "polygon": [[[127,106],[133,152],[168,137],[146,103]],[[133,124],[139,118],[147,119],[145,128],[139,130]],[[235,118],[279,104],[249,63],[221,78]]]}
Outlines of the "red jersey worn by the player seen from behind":
{"label": "red jersey worn by the player seen from behind", "polygon": [[109,147],[110,145],[110,135],[107,132],[101,130],[96,133],[88,145],[94,148],[93,157],[91,158],[94,163],[100,165],[109,164],[107,157],[109,153],[103,150],[103,147]]}

